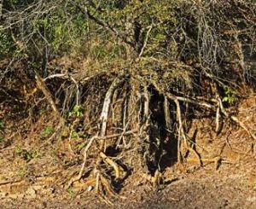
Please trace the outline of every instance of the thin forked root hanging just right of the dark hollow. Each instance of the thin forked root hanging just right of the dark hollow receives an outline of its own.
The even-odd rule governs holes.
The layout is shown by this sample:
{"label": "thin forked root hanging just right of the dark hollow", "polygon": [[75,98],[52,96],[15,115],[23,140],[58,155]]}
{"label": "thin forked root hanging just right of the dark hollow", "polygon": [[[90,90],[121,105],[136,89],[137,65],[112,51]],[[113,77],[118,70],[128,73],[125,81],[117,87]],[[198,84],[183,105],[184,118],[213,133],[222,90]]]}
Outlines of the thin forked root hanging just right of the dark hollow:
{"label": "thin forked root hanging just right of the dark hollow", "polygon": [[180,110],[180,105],[179,105],[179,102],[177,101],[177,99],[174,100],[174,102],[176,103],[176,106],[177,106],[177,120],[178,120],[178,140],[180,142],[178,142],[178,161],[179,162],[182,162],[183,160],[183,157],[182,157],[182,152],[181,152],[181,145],[184,144],[183,148],[187,149],[189,152],[195,154],[195,157],[197,158],[198,160],[198,163],[199,165],[202,165],[202,162],[201,162],[201,157],[200,155],[195,151],[195,149],[193,148],[190,148],[189,144],[188,144],[188,138],[186,136],[186,134],[184,133],[184,130],[183,130],[183,121],[182,121],[182,117],[181,117],[181,110]]}

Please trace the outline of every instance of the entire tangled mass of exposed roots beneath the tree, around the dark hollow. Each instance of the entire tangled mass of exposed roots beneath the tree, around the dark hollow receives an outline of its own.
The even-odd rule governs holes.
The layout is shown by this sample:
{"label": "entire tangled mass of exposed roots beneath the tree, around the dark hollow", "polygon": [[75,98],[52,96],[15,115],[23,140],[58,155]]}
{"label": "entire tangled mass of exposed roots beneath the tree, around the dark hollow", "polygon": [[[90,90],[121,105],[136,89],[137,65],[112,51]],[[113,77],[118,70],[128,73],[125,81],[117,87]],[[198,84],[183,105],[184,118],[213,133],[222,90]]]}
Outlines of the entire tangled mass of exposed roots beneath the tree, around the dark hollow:
{"label": "entire tangled mass of exposed roots beneath the tree, around the dark hollow", "polygon": [[[90,179],[86,185],[88,183],[94,184],[93,188],[98,197],[108,205],[112,205],[111,199],[119,197],[113,185],[114,183],[122,182],[126,175],[126,168],[122,164],[126,154],[125,148],[139,150],[136,154],[140,154],[140,157],[137,158],[140,162],[138,166],[143,168],[143,178],[146,178],[157,189],[160,183],[163,182],[161,176],[163,169],[160,165],[161,157],[166,154],[164,153],[166,151],[163,149],[163,145],[167,140],[170,140],[168,138],[170,136],[161,138],[161,136],[165,135],[163,130],[173,134],[172,140],[177,140],[177,163],[196,162],[200,166],[205,163],[213,163],[216,170],[221,164],[229,163],[228,160],[224,160],[221,157],[201,158],[201,154],[196,150],[196,142],[192,141],[186,132],[188,131],[185,123],[187,118],[183,110],[188,107],[201,107],[215,114],[215,131],[217,134],[221,131],[222,123],[224,123],[222,117],[225,117],[235,121],[256,141],[256,137],[247,128],[247,125],[244,125],[224,109],[219,96],[218,100],[190,98],[181,96],[181,94],[177,96],[175,93],[162,90],[160,85],[154,81],[145,81],[136,76],[133,76],[132,79],[126,81],[123,75],[117,76],[110,84],[104,98],[103,96],[101,97],[103,104],[102,109],[97,111],[97,128],[92,131],[89,139],[82,143],[82,147],[84,147],[83,161],[79,168],[79,173],[70,179],[66,189],[81,180],[84,177],[86,166],[90,166],[90,177],[88,177]],[[133,86],[129,90],[124,90],[125,88],[122,84],[125,82],[137,82],[137,89],[132,89],[135,88]],[[73,83],[76,85],[74,102],[78,104],[80,102],[78,98],[80,94],[78,91],[79,84],[76,81],[73,81]],[[44,92],[45,94],[48,95],[48,93]],[[162,96],[160,102],[154,101],[154,94],[159,94],[158,99]],[[49,105],[54,110],[56,107],[52,105],[54,100],[51,100],[50,96],[48,97]],[[122,108],[123,111],[119,112]],[[159,111],[160,116],[155,116],[154,111]],[[56,112],[56,114],[59,113]],[[89,118],[91,117],[90,113],[86,115]],[[162,117],[164,122],[162,124],[157,122],[157,117]],[[90,119],[86,121],[90,121]],[[79,123],[79,120],[73,121],[69,140],[71,140],[72,131],[75,131],[75,123]],[[161,125],[164,127],[161,127]],[[51,140],[54,136],[49,137],[49,139]],[[110,147],[115,149],[114,151],[117,152],[117,155],[109,154],[108,148]],[[94,158],[92,161],[88,160],[90,154]],[[192,154],[193,157],[191,158],[189,154]]]}

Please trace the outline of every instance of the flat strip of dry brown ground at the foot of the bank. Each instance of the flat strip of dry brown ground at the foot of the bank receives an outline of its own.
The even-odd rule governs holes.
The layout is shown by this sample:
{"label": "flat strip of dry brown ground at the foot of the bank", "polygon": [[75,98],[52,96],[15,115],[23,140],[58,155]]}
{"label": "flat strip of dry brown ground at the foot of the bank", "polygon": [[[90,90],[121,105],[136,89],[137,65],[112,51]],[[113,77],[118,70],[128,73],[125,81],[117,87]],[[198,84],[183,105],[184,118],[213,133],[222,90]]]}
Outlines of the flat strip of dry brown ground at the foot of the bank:
{"label": "flat strip of dry brown ground at the foot of the bank", "polygon": [[251,165],[223,165],[218,171],[214,171],[212,165],[207,165],[200,170],[187,170],[186,174],[178,174],[176,181],[158,191],[147,184],[133,183],[121,192],[127,199],[114,198],[113,206],[108,206],[93,191],[72,196],[59,189],[55,189],[51,195],[29,194],[15,199],[6,196],[2,197],[0,203],[1,208],[253,209],[256,208],[256,176]]}

